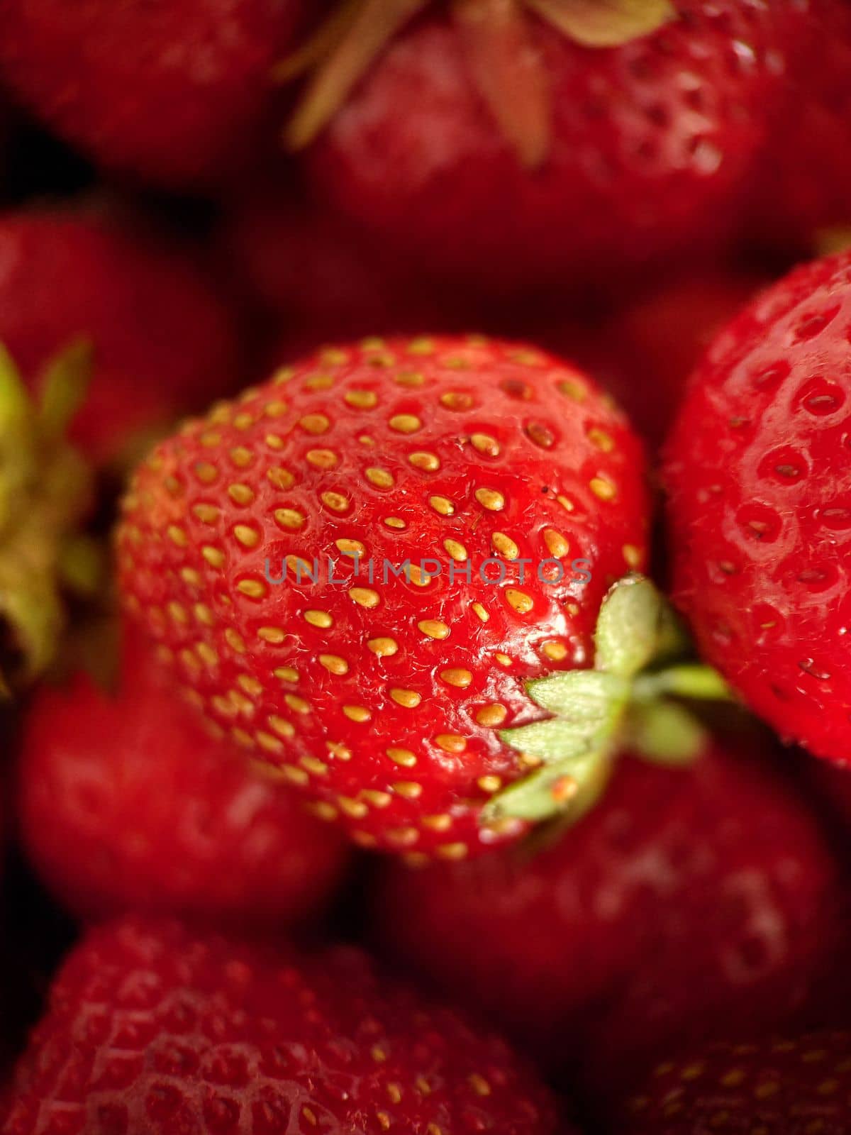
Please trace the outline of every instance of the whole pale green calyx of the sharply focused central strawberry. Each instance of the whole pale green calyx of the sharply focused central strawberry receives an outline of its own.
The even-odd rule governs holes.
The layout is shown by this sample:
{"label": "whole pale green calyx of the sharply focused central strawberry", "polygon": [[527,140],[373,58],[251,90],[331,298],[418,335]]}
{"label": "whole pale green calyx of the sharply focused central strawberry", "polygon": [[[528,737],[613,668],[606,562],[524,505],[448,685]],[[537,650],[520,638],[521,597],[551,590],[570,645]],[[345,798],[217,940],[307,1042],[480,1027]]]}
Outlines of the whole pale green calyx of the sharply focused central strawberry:
{"label": "whole pale green calyx of the sharply focused central strawberry", "polygon": [[672,661],[681,646],[675,617],[655,585],[639,574],[618,580],[600,607],[593,669],[526,683],[532,701],[551,716],[500,731],[533,771],[488,801],[482,823],[583,810],[622,749],[665,764],[694,759],[706,734],[677,699],[731,695],[709,666]]}

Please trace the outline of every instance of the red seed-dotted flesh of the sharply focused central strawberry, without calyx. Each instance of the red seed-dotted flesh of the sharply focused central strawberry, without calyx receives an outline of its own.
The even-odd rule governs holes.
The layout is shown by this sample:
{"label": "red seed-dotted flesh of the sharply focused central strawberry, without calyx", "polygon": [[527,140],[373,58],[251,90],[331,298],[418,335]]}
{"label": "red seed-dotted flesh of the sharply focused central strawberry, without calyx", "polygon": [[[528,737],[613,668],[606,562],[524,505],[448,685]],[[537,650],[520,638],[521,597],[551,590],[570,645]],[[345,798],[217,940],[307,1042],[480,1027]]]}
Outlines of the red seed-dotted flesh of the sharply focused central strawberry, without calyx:
{"label": "red seed-dotted flesh of the sharply focused central strawberry, without calyx", "polygon": [[[529,767],[497,730],[541,716],[524,679],[591,664],[603,597],[646,538],[640,444],[574,368],[472,337],[366,340],[158,447],[124,504],[119,577],[208,716],[320,815],[452,858],[521,834],[479,825]],[[538,575],[553,556],[561,583]],[[318,581],[290,561],[269,582],[286,557],[319,557]],[[423,579],[426,557],[444,573]],[[489,557],[502,586],[480,578]]]}

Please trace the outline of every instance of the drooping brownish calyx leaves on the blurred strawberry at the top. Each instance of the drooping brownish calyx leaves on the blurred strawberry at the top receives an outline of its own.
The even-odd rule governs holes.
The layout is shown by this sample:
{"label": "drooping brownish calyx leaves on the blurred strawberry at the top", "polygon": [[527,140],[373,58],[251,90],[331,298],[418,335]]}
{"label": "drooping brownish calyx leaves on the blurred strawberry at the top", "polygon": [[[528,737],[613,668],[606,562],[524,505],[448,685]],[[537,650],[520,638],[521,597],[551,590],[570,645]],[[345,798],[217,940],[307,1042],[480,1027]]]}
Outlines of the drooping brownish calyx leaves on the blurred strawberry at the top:
{"label": "drooping brownish calyx leaves on the blurred strawberry at the top", "polygon": [[[273,73],[309,75],[286,131],[301,150],[321,134],[394,36],[430,0],[344,0]],[[676,18],[671,0],[450,0],[470,75],[517,160],[541,166],[550,148],[548,77],[529,28],[533,16],[583,48],[615,48]]]}

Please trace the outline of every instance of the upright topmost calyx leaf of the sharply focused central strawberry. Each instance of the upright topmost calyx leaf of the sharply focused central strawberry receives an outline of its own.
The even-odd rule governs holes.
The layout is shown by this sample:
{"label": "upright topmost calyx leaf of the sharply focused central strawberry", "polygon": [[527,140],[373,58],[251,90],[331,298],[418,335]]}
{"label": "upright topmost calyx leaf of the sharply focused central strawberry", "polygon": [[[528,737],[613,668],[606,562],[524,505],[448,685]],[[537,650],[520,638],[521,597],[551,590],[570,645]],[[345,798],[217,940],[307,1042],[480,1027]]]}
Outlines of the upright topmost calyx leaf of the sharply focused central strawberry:
{"label": "upright topmost calyx leaf of the sharply focused central strawberry", "polygon": [[644,575],[624,575],[603,600],[595,630],[595,670],[633,678],[658,645],[663,598]]}

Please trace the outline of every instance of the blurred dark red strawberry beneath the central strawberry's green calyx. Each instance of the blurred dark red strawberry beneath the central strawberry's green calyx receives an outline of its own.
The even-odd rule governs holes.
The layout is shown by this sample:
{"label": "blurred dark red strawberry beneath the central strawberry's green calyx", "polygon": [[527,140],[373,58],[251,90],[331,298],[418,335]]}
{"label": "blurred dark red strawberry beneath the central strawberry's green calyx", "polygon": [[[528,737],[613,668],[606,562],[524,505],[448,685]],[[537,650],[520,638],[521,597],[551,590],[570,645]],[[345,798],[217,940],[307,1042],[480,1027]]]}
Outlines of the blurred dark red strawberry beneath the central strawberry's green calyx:
{"label": "blurred dark red strawberry beneath the central strawberry's green calyx", "polygon": [[550,1063],[610,1085],[646,1053],[783,1020],[839,939],[819,826],[719,741],[618,765],[574,827],[470,864],[390,866],[377,940]]}

